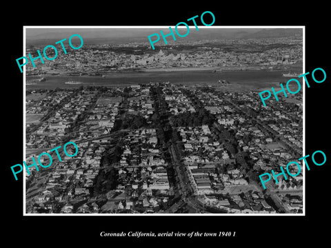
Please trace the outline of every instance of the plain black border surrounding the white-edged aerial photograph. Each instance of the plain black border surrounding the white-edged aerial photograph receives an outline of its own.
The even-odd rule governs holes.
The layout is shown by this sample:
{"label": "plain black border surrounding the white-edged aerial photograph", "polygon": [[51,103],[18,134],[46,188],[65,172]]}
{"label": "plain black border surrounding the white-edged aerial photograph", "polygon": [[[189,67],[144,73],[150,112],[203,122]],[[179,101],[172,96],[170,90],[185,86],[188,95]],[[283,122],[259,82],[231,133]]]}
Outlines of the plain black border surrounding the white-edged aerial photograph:
{"label": "plain black border surrounding the white-edged aerial photograph", "polygon": [[[236,231],[235,238],[153,238],[159,242],[202,242],[235,244],[257,242],[266,244],[292,240],[292,244],[310,238],[325,239],[321,226],[328,215],[328,176],[330,148],[328,135],[328,7],[314,2],[311,6],[289,6],[288,3],[190,3],[190,8],[168,2],[141,2],[137,6],[126,3],[126,8],[109,3],[75,3],[52,6],[24,3],[14,8],[13,17],[3,19],[7,39],[2,39],[5,52],[3,68],[3,215],[6,216],[6,238],[19,236],[25,242],[85,242],[92,240],[115,245],[121,242],[147,242],[151,238],[101,238],[101,231]],[[148,6],[148,8],[146,8]],[[214,25],[305,25],[305,71],[323,68],[324,83],[311,83],[306,88],[305,147],[306,154],[322,150],[327,162],[321,167],[312,165],[306,172],[306,216],[23,216],[22,177],[15,181],[10,166],[23,161],[23,75],[15,59],[23,53],[23,25],[175,25],[209,10],[214,13]],[[3,17],[1,17],[3,18]],[[329,76],[330,75],[330,76]],[[8,219],[7,219],[8,218]],[[21,230],[21,231],[19,231]],[[19,232],[19,234],[18,234]],[[236,242],[234,242],[236,241]],[[269,241],[269,242],[268,242]],[[47,244],[47,243],[45,243]],[[65,244],[65,243],[64,243]],[[175,244],[175,243],[174,243]],[[266,245],[264,243],[264,245]]]}

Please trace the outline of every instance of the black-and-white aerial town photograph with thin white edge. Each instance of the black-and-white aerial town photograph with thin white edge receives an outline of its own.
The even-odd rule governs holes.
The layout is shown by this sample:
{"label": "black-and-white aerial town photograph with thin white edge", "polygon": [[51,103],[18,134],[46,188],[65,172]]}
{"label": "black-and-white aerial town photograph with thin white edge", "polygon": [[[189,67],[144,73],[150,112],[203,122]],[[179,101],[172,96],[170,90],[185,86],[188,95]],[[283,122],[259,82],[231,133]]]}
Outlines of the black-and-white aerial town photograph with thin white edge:
{"label": "black-and-white aerial town photograph with thin white edge", "polygon": [[159,30],[26,27],[26,214],[303,214],[303,27]]}

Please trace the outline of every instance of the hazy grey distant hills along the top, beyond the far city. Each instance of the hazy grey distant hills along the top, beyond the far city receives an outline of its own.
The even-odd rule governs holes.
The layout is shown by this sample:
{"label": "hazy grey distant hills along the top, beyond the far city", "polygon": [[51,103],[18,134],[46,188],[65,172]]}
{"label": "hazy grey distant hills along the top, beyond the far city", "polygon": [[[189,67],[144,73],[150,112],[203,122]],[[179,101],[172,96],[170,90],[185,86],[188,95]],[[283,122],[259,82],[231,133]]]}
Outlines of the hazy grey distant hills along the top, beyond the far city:
{"label": "hazy grey distant hills along the top, beyond the far city", "polygon": [[[80,34],[85,43],[128,43],[131,41],[146,41],[148,36],[153,33],[160,35],[160,40],[163,43],[160,30],[164,34],[169,34],[167,28],[118,28],[118,29],[74,29],[74,30],[27,30],[27,44],[51,44],[63,38],[69,38],[72,34]],[[180,30],[183,31],[183,30]],[[185,32],[180,32],[185,34]],[[302,35],[301,28],[200,28],[197,31],[195,28],[190,28],[190,33],[187,37],[177,37],[179,40],[187,39],[188,41],[199,41],[201,39],[261,39],[261,38],[279,38],[292,37],[295,34]],[[156,39],[156,37],[152,37]],[[77,40],[78,41],[78,40]],[[170,43],[172,37],[167,37]]]}

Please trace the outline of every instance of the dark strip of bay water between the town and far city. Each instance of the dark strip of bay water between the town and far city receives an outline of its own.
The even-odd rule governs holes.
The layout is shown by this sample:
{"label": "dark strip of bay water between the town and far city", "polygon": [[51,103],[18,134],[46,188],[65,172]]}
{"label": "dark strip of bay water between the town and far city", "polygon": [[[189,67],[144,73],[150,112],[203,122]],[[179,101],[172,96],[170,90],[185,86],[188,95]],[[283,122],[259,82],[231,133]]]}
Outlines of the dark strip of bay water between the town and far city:
{"label": "dark strip of bay water between the town and far city", "polygon": [[[282,76],[287,70],[247,70],[227,72],[119,72],[102,76],[46,76],[46,81],[27,85],[27,89],[72,88],[81,85],[119,87],[138,83],[166,82],[183,85],[217,85],[219,80],[230,81],[232,85],[242,87],[242,90],[259,90],[261,87],[276,87],[277,83],[286,82]],[[27,81],[32,79],[28,76]],[[66,81],[79,81],[81,85],[68,85]]]}

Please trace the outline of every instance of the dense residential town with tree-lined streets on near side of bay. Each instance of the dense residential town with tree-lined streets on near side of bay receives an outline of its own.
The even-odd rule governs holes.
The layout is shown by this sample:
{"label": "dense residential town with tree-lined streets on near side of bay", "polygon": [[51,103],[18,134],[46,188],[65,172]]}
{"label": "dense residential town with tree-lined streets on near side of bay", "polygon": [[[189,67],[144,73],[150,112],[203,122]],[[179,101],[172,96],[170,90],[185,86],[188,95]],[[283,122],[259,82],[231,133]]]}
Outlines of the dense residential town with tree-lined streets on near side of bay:
{"label": "dense residential town with tree-lined streets on near side of bay", "polygon": [[302,174],[267,190],[258,178],[300,157],[300,103],[262,111],[256,92],[156,82],[28,90],[26,105],[29,158],[79,147],[26,177],[28,213],[302,211]]}

